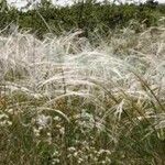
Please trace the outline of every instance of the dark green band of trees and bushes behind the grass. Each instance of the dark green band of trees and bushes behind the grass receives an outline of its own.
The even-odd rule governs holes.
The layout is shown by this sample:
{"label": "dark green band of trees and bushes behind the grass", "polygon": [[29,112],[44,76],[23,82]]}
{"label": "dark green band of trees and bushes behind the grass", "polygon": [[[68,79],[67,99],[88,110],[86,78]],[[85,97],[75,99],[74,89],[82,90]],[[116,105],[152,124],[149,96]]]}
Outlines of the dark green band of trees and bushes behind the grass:
{"label": "dark green band of trees and bushes behind the grass", "polygon": [[84,35],[88,36],[89,32],[96,30],[106,34],[110,29],[125,28],[131,21],[136,22],[132,26],[140,32],[141,24],[146,28],[157,25],[158,19],[163,15],[165,15],[165,4],[152,0],[139,6],[86,1],[61,8],[43,0],[35,9],[26,12],[15,8],[9,9],[3,1],[0,3],[0,29],[6,29],[12,22],[21,30],[35,32],[38,37],[50,32],[61,34],[75,29],[84,30]]}

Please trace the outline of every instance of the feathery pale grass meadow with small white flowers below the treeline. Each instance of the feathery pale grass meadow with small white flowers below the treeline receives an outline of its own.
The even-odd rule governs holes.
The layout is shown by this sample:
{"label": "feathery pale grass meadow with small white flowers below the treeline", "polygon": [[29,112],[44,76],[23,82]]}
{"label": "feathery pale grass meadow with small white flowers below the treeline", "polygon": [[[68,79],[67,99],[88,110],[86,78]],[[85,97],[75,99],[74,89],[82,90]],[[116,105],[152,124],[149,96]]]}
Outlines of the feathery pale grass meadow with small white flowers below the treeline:
{"label": "feathery pale grass meadow with small white flowers below the treeline", "polygon": [[164,165],[165,29],[80,33],[0,36],[0,164]]}

